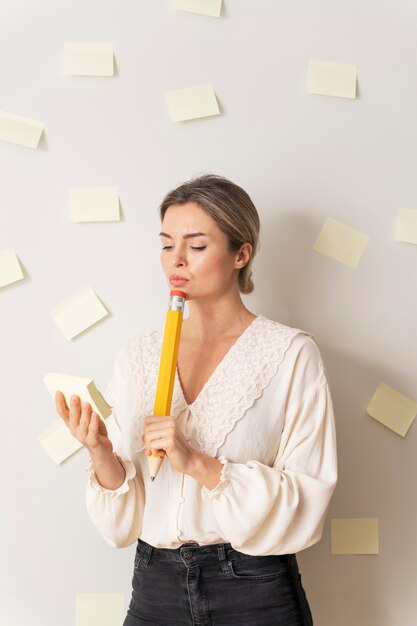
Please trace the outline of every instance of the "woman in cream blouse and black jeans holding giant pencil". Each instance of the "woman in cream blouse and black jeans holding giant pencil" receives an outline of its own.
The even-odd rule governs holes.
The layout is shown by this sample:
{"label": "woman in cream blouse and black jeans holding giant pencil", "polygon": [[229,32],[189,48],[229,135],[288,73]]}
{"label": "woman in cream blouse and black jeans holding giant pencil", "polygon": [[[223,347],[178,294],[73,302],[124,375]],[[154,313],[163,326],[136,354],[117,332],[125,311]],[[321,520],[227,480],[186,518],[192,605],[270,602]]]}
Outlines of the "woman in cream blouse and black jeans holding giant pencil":
{"label": "woman in cream blouse and black jeans holding giant pencil", "polygon": [[[189,302],[171,416],[152,416],[162,332],[118,352],[108,420],[57,409],[91,456],[89,514],[138,541],[124,626],[312,624],[295,553],[317,542],[336,484],[332,401],[308,333],[254,315],[259,217],[232,182],[202,176],[160,207],[161,262]],[[155,481],[147,454],[166,456]]]}

